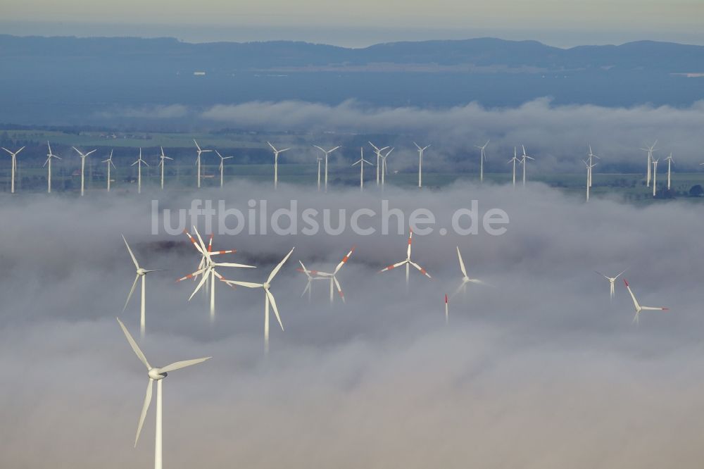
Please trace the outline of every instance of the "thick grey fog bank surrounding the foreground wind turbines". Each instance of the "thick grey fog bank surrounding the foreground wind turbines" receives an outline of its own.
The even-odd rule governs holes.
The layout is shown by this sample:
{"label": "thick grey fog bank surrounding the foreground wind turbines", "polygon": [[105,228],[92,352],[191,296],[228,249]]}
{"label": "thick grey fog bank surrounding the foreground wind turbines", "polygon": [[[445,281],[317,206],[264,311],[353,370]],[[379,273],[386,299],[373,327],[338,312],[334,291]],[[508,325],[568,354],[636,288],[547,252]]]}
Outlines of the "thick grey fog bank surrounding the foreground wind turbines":
{"label": "thick grey fog bank surrounding the foreground wind turbines", "polygon": [[[146,268],[151,363],[213,356],[170,373],[164,385],[164,457],[170,468],[698,468],[704,425],[704,327],[700,307],[700,206],[635,208],[539,184],[456,184],[438,192],[390,189],[406,215],[428,208],[438,227],[479,201],[501,208],[508,232],[414,237],[413,255],[432,280],[377,270],[406,256],[406,227],[359,236],[215,235],[215,249],[238,249],[223,268],[233,280],[261,282],[295,246],[272,282],[285,332],[273,327],[263,354],[263,294],[218,284],[215,323],[193,284],[175,284],[199,257],[184,235],[151,235],[151,200],[188,208],[225,199],[246,210],[377,210],[374,190],[231,183],[225,191],[108,196],[2,196],[0,223],[0,461],[20,468],[148,467],[151,408],[132,449],[146,370],[115,321],[139,334],[138,292],[122,313],[134,266],[120,233]],[[365,223],[366,224],[366,223]],[[201,232],[203,226],[199,227]],[[296,272],[329,270],[351,246],[339,274],[347,302],[327,299]],[[470,285],[460,281],[455,246]],[[646,311],[639,327],[622,282],[628,268]],[[273,320],[273,317],[272,317]]]}

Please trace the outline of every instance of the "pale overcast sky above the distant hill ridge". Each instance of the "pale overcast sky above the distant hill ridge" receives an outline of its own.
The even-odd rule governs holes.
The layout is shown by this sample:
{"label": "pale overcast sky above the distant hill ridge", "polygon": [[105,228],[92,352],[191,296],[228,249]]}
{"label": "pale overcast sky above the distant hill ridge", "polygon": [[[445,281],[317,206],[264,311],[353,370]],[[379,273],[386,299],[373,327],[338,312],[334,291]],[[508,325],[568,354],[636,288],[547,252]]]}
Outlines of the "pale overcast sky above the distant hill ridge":
{"label": "pale overcast sky above the distant hill ridge", "polygon": [[571,46],[634,39],[702,44],[703,18],[698,0],[6,0],[2,21],[4,32],[21,35],[300,39],[345,46],[495,36]]}

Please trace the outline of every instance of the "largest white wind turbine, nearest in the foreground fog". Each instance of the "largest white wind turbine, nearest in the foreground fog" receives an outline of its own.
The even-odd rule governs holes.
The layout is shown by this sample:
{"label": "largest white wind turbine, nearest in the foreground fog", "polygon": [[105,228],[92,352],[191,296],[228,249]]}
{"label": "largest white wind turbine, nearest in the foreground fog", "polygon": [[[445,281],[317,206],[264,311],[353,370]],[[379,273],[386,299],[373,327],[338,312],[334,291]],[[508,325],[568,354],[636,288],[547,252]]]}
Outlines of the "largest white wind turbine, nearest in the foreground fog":
{"label": "largest white wind turbine, nearest in the foreground fog", "polygon": [[132,335],[127,331],[127,327],[122,324],[120,318],[118,318],[118,323],[122,327],[122,332],[125,332],[125,337],[127,337],[127,342],[130,342],[134,354],[137,355],[139,361],[144,363],[146,369],[148,370],[147,375],[149,376],[149,384],[146,385],[146,396],[144,396],[144,404],[142,405],[142,413],[139,415],[139,425],[137,425],[137,437],[134,438],[134,446],[137,447],[137,442],[139,441],[139,434],[142,433],[142,426],[144,425],[144,418],[146,418],[146,412],[149,411],[149,404],[151,404],[151,398],[153,395],[153,384],[156,381],[156,440],[154,442],[154,469],[161,469],[163,465],[162,458],[162,403],[161,403],[161,381],[175,370],[180,370],[181,368],[186,368],[187,366],[197,365],[198,363],[203,363],[212,357],[206,358],[196,358],[194,360],[177,361],[166,365],[162,368],[152,367],[149,362],[146,361],[146,357],[139,349],[137,342],[134,342]]}

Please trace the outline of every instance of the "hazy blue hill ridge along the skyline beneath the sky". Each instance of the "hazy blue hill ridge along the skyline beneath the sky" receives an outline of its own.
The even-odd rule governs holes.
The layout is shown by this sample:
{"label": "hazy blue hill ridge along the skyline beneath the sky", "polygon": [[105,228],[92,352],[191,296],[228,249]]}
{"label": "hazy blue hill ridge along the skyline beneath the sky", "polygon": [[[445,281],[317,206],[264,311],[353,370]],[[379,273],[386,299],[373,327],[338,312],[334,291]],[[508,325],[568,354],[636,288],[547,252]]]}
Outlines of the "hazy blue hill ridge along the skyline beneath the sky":
{"label": "hazy blue hill ridge along the skyline beneath the sky", "polygon": [[536,67],[548,70],[660,70],[704,72],[704,46],[639,41],[619,46],[576,46],[570,49],[537,41],[491,37],[463,40],[389,42],[349,49],[307,42],[210,42],[192,44],[174,38],[18,37],[0,35],[0,57],[49,58],[52,61],[119,59],[127,65],[189,64],[191,67],[247,70],[360,66],[375,63]]}

